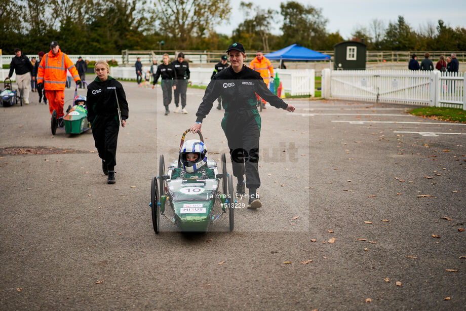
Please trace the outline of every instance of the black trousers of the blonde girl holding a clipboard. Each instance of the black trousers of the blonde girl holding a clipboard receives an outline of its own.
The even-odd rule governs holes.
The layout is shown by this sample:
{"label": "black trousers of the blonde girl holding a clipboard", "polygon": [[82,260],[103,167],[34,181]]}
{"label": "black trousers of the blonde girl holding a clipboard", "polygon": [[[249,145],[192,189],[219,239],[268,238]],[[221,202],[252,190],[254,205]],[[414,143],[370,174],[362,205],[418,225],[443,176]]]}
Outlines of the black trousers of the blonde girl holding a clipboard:
{"label": "black trousers of the blonde girl holding a clipboard", "polygon": [[91,128],[99,158],[105,160],[108,170],[112,171],[117,165],[118,115],[96,115]]}

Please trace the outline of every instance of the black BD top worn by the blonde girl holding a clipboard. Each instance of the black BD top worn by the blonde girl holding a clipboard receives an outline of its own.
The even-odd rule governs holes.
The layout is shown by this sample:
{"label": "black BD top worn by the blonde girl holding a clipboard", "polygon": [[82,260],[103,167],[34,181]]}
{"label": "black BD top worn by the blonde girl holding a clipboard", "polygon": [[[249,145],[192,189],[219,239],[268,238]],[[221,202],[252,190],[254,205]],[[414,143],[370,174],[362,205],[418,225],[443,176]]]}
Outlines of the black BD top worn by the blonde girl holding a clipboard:
{"label": "black BD top worn by the blonde girl holding a clipboard", "polygon": [[128,119],[128,102],[126,101],[126,94],[122,84],[111,76],[108,76],[108,79],[103,82],[96,77],[96,79],[89,84],[87,92],[88,121],[91,124],[98,115],[114,114],[118,119],[115,89],[118,94],[122,119]]}

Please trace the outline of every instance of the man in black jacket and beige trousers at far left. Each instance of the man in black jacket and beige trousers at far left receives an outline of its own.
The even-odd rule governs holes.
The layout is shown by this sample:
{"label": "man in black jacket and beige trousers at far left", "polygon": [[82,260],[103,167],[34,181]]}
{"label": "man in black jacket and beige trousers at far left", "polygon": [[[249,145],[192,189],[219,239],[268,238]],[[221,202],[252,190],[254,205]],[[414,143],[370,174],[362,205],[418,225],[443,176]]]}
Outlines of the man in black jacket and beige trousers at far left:
{"label": "man in black jacket and beige trousers at far left", "polygon": [[10,63],[10,73],[7,78],[13,75],[13,70],[16,71],[16,83],[18,84],[21,97],[26,105],[29,104],[29,92],[31,91],[31,72],[32,64],[29,58],[21,52],[21,49],[15,49],[15,57]]}

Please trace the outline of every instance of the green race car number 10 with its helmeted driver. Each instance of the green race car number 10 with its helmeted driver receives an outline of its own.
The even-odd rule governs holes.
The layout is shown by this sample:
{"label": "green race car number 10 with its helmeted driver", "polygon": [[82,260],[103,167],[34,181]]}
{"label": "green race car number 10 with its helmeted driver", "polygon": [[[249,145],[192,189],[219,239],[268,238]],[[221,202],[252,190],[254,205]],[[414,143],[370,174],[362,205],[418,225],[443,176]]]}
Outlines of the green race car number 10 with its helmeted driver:
{"label": "green race car number 10 with its helmeted driver", "polygon": [[[222,172],[218,173],[217,163],[207,159],[202,134],[198,132],[200,140],[184,142],[188,132],[189,129],[183,133],[178,160],[170,163],[167,174],[164,155],[160,155],[159,176],[153,177],[150,186],[153,229],[159,233],[160,216],[165,216],[180,231],[207,231],[213,221],[228,212],[229,230],[232,231],[237,202],[232,175],[226,172],[225,154],[221,157]],[[198,155],[197,162],[188,161],[186,154],[188,157]],[[167,205],[173,214],[170,217],[166,215]]]}

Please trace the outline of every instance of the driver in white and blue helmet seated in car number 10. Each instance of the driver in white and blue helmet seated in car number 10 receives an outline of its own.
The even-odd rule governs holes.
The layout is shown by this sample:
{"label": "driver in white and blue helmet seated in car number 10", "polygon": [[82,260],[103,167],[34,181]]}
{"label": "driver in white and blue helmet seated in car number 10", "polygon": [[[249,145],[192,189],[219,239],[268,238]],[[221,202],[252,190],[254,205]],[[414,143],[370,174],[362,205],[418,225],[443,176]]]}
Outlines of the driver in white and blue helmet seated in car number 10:
{"label": "driver in white and blue helmet seated in car number 10", "polygon": [[214,171],[207,167],[206,145],[198,139],[183,143],[179,152],[181,167],[173,170],[172,179],[213,179]]}

